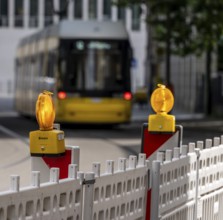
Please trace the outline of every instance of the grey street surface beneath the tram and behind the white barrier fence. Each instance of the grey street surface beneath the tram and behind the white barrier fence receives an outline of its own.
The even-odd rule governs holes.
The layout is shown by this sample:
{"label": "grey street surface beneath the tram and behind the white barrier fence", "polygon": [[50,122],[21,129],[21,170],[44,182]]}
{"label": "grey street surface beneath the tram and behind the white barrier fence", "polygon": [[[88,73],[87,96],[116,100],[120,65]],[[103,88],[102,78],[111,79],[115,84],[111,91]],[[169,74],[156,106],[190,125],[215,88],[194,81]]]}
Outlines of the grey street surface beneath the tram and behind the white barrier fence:
{"label": "grey street surface beneath the tram and behind the white barrier fence", "polygon": [[[31,171],[29,132],[38,129],[35,119],[19,116],[9,103],[1,104],[0,191],[9,188],[11,174],[20,175],[21,186],[29,185]],[[119,157],[140,153],[141,126],[143,122],[147,122],[147,116],[147,108],[135,106],[132,123],[128,125],[111,127],[62,124],[61,129],[65,132],[66,145],[80,147],[81,171],[91,171],[93,162],[101,162],[104,170],[106,160],[117,162]],[[182,117],[182,114],[177,114],[176,118],[177,124],[184,127],[183,144],[206,138],[212,139],[223,134],[222,120],[186,118]]]}

